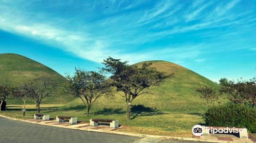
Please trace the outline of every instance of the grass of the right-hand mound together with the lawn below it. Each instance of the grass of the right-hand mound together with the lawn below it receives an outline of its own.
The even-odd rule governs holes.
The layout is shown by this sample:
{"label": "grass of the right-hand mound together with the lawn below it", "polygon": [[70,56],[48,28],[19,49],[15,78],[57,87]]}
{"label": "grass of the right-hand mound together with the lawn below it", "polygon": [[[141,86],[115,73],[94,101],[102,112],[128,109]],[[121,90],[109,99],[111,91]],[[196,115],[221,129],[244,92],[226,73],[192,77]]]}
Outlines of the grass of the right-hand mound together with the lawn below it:
{"label": "grass of the right-hand mound together with the lawn below it", "polygon": [[[89,122],[91,118],[112,118],[125,126],[124,129],[117,130],[121,132],[193,137],[191,128],[196,124],[204,124],[201,115],[207,107],[206,102],[200,99],[195,90],[205,85],[218,88],[218,84],[174,63],[146,62],[153,62],[153,67],[167,74],[175,73],[175,78],[167,80],[161,86],[150,88],[154,94],[136,98],[132,104],[142,104],[144,107],[132,109],[130,121],[125,117],[125,99],[119,94],[116,94],[113,100],[101,98],[96,101],[89,117],[86,116],[86,109],[79,99],[66,105],[44,105],[41,112],[50,114],[51,117],[76,116],[83,122]],[[137,65],[141,64],[142,62]],[[219,101],[226,102],[223,99]],[[10,110],[1,114],[16,118],[32,118],[36,113],[35,106],[27,107],[25,117],[20,112],[20,105],[9,105],[8,108]]]}

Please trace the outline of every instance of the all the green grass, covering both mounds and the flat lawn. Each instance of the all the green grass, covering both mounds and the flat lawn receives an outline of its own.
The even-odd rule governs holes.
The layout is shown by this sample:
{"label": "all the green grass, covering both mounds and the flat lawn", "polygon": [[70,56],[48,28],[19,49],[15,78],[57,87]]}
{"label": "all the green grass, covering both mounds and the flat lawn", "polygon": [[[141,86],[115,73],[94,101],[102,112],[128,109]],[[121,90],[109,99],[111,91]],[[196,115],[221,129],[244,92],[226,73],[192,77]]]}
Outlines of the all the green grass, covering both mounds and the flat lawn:
{"label": "all the green grass, covering both mounds and the flat lawn", "polygon": [[[65,80],[49,67],[20,55],[2,54],[0,61],[0,75],[5,77],[0,82],[7,85],[20,83],[26,78],[35,78],[42,73],[51,75],[57,81]],[[41,112],[50,114],[51,117],[76,116],[83,122],[89,122],[91,118],[119,120],[121,125],[125,126],[118,130],[121,132],[193,136],[191,128],[204,123],[201,115],[207,108],[205,100],[200,98],[196,89],[206,85],[218,89],[219,85],[180,65],[166,61],[150,62],[153,62],[152,67],[166,74],[174,73],[175,77],[166,80],[161,86],[148,89],[152,94],[136,98],[132,105],[143,105],[146,110],[133,111],[131,121],[127,121],[125,117],[125,99],[120,96],[122,93],[115,94],[114,99],[98,99],[91,109],[90,117],[86,116],[86,109],[81,100],[65,95],[45,99],[42,104],[49,105],[42,105]],[[141,66],[142,62],[137,65]],[[220,104],[227,101],[223,97],[218,100]],[[23,117],[20,111],[22,101],[8,99],[7,104],[8,110],[0,114],[15,118],[33,118],[33,114],[36,113],[35,106],[28,105],[26,116]],[[33,102],[29,101],[28,104]]]}

